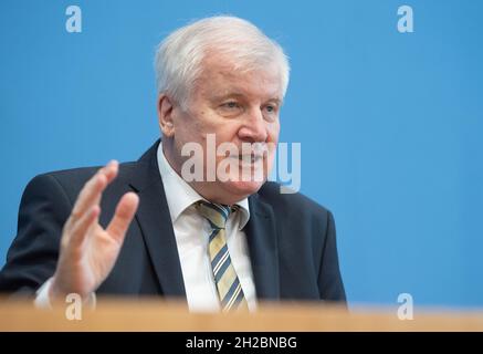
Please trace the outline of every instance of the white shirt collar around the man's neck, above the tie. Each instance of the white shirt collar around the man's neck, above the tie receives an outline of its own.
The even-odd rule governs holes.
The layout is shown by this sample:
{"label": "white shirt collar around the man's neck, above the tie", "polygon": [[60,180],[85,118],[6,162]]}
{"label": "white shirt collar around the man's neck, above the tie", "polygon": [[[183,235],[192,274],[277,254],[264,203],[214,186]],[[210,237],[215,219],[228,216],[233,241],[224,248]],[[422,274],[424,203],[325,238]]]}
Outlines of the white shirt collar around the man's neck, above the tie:
{"label": "white shirt collar around the man's neck, above the tie", "polygon": [[[175,222],[187,208],[199,200],[206,199],[172,169],[162,152],[162,144],[158,146],[157,157],[171,222]],[[241,230],[250,219],[249,199],[244,198],[235,205],[240,207],[239,229]]]}

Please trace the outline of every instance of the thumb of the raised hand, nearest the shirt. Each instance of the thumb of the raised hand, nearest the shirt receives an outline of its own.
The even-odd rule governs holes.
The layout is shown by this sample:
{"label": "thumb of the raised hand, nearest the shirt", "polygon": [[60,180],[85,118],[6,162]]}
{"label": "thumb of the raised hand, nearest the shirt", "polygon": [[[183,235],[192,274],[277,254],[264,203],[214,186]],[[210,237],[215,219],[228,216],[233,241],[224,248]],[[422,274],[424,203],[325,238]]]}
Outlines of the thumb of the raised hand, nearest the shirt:
{"label": "thumb of the raised hand, nearest the shirt", "polygon": [[124,240],[126,230],[136,214],[138,205],[139,197],[135,192],[126,192],[117,204],[116,212],[107,226],[106,231],[119,243]]}

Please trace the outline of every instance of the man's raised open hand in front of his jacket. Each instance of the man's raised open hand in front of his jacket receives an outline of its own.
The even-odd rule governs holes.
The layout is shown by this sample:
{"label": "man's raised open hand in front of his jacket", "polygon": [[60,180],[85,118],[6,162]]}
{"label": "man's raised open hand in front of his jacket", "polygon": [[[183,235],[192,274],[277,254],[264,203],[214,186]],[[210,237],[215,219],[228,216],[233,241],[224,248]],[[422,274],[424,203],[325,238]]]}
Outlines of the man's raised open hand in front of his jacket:
{"label": "man's raised open hand in front of his jacket", "polygon": [[126,192],[107,228],[101,227],[101,197],[117,171],[117,162],[111,162],[81,190],[62,231],[57,267],[49,293],[51,299],[64,299],[67,293],[85,299],[113,269],[139,202],[135,192]]}

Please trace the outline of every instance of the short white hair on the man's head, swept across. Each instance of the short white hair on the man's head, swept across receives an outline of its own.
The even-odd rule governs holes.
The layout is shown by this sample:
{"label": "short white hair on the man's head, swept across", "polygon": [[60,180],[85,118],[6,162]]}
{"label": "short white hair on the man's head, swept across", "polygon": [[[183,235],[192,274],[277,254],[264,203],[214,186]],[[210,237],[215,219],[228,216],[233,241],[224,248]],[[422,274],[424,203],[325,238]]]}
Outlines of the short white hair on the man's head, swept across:
{"label": "short white hair on the man's head, swept across", "polygon": [[288,60],[282,48],[246,20],[217,15],[196,21],[169,34],[155,59],[158,94],[167,94],[187,108],[190,90],[202,71],[208,51],[233,59],[234,70],[279,66],[282,96],[288,85]]}

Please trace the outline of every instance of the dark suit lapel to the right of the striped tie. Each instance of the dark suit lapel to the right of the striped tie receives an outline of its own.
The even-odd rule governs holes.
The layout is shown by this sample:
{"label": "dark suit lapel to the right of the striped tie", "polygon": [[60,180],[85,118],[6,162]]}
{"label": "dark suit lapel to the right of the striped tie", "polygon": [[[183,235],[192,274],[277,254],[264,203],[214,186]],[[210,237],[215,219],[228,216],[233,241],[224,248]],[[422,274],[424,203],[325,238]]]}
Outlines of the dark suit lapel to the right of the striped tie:
{"label": "dark suit lapel to the right of the striped tie", "polygon": [[259,195],[249,198],[250,220],[245,227],[256,296],[265,300],[280,299],[279,247],[275,217],[272,207],[260,200]]}

